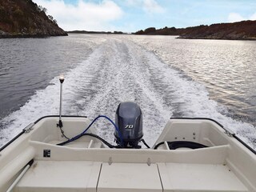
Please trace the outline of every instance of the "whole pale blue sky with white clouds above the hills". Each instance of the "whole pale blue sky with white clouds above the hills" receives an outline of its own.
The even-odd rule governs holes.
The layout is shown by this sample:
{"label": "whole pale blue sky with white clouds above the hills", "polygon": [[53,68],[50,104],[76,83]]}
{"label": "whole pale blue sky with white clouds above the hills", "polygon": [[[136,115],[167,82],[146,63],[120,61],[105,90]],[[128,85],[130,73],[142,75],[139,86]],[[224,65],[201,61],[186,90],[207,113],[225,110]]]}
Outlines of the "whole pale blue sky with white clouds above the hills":
{"label": "whole pale blue sky with white clouds above the hills", "polygon": [[256,0],[33,0],[63,30],[136,32],[256,20]]}

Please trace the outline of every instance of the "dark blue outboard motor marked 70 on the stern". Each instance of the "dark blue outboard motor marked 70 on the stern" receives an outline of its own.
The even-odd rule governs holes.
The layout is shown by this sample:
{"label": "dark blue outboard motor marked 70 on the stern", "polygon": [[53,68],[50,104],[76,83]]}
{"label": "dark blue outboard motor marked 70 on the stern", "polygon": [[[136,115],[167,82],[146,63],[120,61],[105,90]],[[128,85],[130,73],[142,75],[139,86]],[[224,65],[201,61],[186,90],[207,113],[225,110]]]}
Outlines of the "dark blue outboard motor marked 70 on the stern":
{"label": "dark blue outboard motor marked 70 on the stern", "polygon": [[[115,115],[115,124],[122,134],[123,147],[141,148],[138,146],[138,142],[143,136],[142,110],[135,102],[121,102],[119,104]],[[121,146],[117,130],[114,132],[114,137],[118,146]]]}

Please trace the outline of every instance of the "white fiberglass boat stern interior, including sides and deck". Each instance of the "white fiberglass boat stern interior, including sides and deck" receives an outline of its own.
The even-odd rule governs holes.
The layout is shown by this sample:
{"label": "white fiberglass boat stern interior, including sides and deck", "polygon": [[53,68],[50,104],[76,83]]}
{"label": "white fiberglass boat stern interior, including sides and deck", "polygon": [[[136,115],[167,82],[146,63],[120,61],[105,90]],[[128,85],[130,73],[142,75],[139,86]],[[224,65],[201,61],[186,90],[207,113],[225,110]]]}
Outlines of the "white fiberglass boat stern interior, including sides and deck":
{"label": "white fiberglass boat stern interior, including sides and deck", "polygon": [[[86,117],[62,122],[69,137],[89,125]],[[256,191],[254,150],[209,119],[170,119],[156,150],[110,149],[90,136],[58,146],[65,138],[57,123],[58,117],[42,118],[2,148],[0,191],[13,183],[14,192]],[[170,150],[174,141],[209,147]]]}

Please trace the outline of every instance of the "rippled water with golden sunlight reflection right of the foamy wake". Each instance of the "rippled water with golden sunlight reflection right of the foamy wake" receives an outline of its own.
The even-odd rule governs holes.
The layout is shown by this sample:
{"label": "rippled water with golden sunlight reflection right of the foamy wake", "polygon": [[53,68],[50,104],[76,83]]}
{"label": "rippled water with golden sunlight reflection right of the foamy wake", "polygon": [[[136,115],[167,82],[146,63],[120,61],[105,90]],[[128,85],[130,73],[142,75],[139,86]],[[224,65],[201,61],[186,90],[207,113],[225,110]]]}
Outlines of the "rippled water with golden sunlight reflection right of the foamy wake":
{"label": "rippled water with golden sunlight reflection right of the foamy wake", "polygon": [[256,126],[256,42],[140,36],[135,42],[203,83],[232,117]]}

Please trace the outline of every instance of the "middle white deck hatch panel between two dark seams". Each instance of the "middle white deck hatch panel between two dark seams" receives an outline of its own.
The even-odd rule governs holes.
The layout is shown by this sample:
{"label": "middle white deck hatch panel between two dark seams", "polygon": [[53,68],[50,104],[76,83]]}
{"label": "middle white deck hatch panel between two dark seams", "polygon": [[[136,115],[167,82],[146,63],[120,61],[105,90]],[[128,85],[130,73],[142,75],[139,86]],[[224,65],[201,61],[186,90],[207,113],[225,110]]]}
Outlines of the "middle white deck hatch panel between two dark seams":
{"label": "middle white deck hatch panel between two dark seams", "polygon": [[162,192],[158,166],[151,163],[102,163],[98,192]]}

